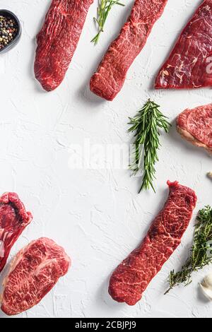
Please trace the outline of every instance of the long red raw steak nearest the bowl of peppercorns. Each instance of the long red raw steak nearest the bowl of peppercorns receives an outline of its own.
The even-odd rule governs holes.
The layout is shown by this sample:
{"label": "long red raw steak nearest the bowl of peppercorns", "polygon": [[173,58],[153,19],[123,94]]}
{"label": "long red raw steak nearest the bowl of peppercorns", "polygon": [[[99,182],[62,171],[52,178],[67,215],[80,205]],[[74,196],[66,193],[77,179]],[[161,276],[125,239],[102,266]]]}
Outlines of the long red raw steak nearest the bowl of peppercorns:
{"label": "long red raw steak nearest the bowl of peppercorns", "polygon": [[46,91],[63,81],[93,0],[52,0],[37,35],[35,77]]}

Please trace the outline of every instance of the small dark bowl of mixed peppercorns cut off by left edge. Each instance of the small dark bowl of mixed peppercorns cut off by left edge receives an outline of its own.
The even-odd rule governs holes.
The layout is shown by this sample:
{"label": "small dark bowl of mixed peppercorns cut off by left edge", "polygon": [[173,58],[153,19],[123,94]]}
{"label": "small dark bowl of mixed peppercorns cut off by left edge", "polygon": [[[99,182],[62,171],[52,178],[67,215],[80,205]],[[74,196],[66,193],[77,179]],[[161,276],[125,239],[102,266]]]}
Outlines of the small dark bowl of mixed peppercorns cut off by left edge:
{"label": "small dark bowl of mixed peppercorns cut off by left edge", "polygon": [[21,35],[21,25],[17,16],[11,11],[0,9],[0,53],[12,49]]}

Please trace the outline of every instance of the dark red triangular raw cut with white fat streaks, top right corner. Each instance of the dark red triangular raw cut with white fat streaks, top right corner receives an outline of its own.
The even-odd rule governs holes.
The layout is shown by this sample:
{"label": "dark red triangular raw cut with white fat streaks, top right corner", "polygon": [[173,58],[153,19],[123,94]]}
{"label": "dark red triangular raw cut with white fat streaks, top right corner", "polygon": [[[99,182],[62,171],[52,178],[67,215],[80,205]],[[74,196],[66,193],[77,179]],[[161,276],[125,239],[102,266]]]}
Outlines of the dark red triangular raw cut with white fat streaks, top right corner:
{"label": "dark red triangular raw cut with white fat streaks, top right corner", "polygon": [[170,57],[160,69],[155,88],[201,88],[212,85],[212,0],[199,6]]}

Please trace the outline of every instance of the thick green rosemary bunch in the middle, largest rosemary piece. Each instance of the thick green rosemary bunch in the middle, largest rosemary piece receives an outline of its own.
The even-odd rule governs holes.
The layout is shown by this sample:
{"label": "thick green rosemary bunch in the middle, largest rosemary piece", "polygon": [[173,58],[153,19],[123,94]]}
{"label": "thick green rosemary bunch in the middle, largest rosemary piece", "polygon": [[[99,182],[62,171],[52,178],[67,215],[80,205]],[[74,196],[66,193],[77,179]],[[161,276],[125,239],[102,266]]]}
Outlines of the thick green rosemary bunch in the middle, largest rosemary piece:
{"label": "thick green rosemary bunch in the middle, largest rosemary piece", "polygon": [[155,163],[158,161],[158,149],[160,147],[160,129],[167,133],[171,124],[159,110],[159,105],[150,99],[139,110],[134,118],[129,118],[131,124],[130,132],[135,132],[134,151],[132,153],[132,162],[130,170],[134,175],[143,170],[141,189],[150,189],[153,191],[153,180],[155,179]]}

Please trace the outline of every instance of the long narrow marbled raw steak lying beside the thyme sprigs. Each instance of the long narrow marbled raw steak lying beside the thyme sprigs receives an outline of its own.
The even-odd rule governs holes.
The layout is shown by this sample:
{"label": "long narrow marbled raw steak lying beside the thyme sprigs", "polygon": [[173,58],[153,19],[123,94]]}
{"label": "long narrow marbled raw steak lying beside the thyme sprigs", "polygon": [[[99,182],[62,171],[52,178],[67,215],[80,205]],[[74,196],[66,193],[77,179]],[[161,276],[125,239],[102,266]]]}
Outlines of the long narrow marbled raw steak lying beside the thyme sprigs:
{"label": "long narrow marbled raw steak lying beside the thyme sprigs", "polygon": [[109,293],[117,302],[134,305],[141,300],[146,287],[179,246],[192,218],[196,194],[178,182],[167,182],[170,195],[153,221],[139,248],[114,271]]}

